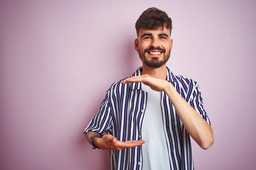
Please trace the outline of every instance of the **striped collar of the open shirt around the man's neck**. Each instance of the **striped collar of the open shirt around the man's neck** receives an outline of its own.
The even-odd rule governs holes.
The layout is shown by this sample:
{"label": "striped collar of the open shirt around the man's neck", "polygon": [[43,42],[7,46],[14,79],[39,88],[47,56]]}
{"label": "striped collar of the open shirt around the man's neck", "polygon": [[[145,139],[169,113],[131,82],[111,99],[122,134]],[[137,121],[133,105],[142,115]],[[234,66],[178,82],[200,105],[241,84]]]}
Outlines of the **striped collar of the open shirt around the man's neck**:
{"label": "striped collar of the open shirt around the man's neck", "polygon": [[[135,72],[134,74],[132,74],[131,77],[134,77],[134,76],[140,76],[141,72],[143,71],[143,67],[139,67]],[[170,71],[170,69],[168,67],[166,67],[166,72],[167,72],[167,81],[168,82],[171,82],[173,85],[175,85],[175,82],[176,82],[176,79],[175,79],[175,76],[174,74],[172,73],[172,71]],[[133,83],[130,83],[130,88],[132,90],[142,90],[142,82],[133,82]]]}

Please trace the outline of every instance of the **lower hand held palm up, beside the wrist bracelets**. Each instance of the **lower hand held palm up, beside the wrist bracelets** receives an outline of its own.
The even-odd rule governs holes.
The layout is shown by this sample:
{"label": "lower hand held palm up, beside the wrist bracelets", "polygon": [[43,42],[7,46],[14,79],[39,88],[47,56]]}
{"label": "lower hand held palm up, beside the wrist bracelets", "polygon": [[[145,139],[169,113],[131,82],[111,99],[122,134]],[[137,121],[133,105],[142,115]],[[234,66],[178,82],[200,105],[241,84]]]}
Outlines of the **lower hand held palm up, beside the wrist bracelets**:
{"label": "lower hand held palm up, beside the wrist bracelets", "polygon": [[102,138],[96,140],[96,146],[102,150],[122,150],[124,148],[137,147],[144,143],[145,141],[143,140],[121,142],[112,135],[103,135]]}

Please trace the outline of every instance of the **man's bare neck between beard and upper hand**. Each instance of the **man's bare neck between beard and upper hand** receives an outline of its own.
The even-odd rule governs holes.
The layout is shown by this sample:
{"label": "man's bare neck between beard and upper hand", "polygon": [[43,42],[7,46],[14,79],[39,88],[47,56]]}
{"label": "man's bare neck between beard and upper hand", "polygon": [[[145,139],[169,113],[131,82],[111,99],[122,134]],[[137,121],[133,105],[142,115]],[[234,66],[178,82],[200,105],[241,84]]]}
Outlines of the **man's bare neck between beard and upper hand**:
{"label": "man's bare neck between beard and upper hand", "polygon": [[148,74],[150,76],[166,80],[166,77],[167,77],[166,64],[162,65],[160,68],[149,68],[143,63],[143,71],[141,75],[143,74]]}

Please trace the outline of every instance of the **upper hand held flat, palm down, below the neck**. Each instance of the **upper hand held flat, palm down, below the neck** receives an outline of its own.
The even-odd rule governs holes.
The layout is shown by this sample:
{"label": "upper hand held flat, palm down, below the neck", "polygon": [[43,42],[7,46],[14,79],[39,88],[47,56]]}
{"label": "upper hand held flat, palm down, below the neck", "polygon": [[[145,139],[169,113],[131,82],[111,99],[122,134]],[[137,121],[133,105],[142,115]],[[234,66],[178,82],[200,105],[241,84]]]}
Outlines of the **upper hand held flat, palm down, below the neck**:
{"label": "upper hand held flat, palm down, below the neck", "polygon": [[123,80],[122,84],[132,83],[132,82],[142,82],[148,85],[154,91],[165,91],[166,88],[171,85],[167,80],[152,77],[150,75],[144,74],[142,76],[134,76]]}

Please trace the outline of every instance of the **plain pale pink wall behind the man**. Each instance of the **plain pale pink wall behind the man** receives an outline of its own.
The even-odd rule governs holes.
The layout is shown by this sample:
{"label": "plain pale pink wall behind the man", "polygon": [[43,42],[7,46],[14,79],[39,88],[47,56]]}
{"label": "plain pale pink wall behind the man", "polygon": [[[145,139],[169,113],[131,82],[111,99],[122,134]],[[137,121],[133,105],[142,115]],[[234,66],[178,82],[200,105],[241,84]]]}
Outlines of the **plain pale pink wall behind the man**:
{"label": "plain pale pink wall behind the man", "polygon": [[115,81],[140,65],[135,22],[148,7],[173,20],[167,65],[196,80],[215,143],[193,142],[196,170],[255,169],[256,2],[0,3],[0,169],[109,170],[82,134]]}

